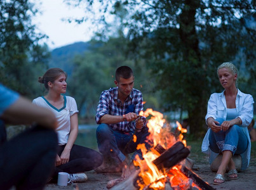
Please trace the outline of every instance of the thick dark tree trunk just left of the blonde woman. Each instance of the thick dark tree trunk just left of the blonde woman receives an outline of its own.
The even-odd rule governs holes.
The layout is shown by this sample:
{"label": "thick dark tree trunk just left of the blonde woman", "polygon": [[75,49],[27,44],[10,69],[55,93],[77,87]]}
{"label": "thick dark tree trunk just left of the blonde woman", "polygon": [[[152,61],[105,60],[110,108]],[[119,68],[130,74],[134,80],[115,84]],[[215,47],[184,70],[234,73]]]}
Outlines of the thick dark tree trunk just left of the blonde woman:
{"label": "thick dark tree trunk just left of the blonde woman", "polygon": [[198,136],[204,131],[204,117],[206,114],[206,105],[204,94],[206,89],[205,72],[199,52],[199,40],[196,33],[196,9],[199,7],[199,1],[185,1],[184,9],[180,14],[180,39],[183,44],[183,58],[189,63],[191,68],[191,80],[189,80],[187,92],[191,94],[192,106],[189,112],[189,126],[191,134]]}

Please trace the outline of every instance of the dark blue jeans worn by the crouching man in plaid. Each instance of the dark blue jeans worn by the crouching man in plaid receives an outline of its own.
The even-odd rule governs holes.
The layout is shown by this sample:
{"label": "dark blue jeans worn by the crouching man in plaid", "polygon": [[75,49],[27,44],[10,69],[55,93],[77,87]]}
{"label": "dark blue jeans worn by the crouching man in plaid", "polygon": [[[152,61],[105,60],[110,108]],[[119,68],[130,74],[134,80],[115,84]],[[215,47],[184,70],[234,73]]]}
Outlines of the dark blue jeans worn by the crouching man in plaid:
{"label": "dark blue jeans worn by the crouching man in plaid", "polygon": [[[136,142],[133,142],[133,134],[137,137]],[[111,156],[117,162],[123,162],[125,155],[133,152],[135,153],[131,156],[132,159],[135,158],[135,155],[140,156],[140,159],[142,159],[142,152],[140,149],[137,150],[138,144],[144,143],[147,149],[151,147],[151,143],[145,141],[149,135],[147,127],[144,127],[140,132],[131,131],[124,133],[113,130],[107,124],[100,124],[98,125],[96,135],[100,153],[104,157]]]}

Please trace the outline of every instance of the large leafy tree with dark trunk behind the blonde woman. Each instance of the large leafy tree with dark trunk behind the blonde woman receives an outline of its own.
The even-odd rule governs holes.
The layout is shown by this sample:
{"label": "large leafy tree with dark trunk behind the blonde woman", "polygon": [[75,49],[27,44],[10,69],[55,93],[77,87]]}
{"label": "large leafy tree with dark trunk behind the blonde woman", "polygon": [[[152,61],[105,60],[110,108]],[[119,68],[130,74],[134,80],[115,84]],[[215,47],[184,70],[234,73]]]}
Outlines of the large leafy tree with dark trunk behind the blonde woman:
{"label": "large leafy tree with dark trunk behind the blonde woman", "polygon": [[127,10],[119,21],[128,30],[130,51],[150,63],[166,110],[188,111],[192,134],[205,130],[208,98],[220,91],[217,65],[232,61],[241,68],[245,63],[250,73],[255,72],[256,30],[246,25],[248,18],[255,23],[252,1],[68,2],[83,3],[91,11],[96,4],[101,5],[97,9],[101,14],[93,19],[102,23],[109,15]]}

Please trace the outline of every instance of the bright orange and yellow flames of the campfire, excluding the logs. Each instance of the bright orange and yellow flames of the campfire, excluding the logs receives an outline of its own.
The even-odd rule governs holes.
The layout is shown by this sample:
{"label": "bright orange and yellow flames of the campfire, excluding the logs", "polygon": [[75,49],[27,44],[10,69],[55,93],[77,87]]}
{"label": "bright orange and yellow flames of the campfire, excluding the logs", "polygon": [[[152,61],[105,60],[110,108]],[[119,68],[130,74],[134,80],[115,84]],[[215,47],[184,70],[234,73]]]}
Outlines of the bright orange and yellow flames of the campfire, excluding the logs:
{"label": "bright orange and yellow flames of the campfire, excluding the logs", "polygon": [[[165,124],[162,113],[147,109],[145,112],[140,111],[139,115],[144,117],[151,115],[151,118],[147,122],[147,127],[150,132],[148,141],[154,143],[154,148],[156,148],[157,145],[161,145],[163,148],[167,149],[172,147],[177,141],[182,141],[184,145],[186,144],[185,140],[183,140],[182,133],[187,132],[187,130],[183,129],[179,122],[177,122],[177,129],[180,131],[180,135],[176,138],[172,132],[170,132],[170,126]],[[176,165],[168,170],[159,170],[158,167],[152,163],[153,160],[160,156],[160,153],[154,148],[147,150],[145,144],[138,144],[137,146],[137,149],[141,149],[144,158],[144,160],[140,160],[137,156],[136,161],[134,161],[134,165],[140,167],[138,176],[143,180],[143,182],[137,181],[140,189],[144,189],[145,187],[148,187],[148,189],[163,189],[166,180],[170,181],[172,187],[179,186],[179,189],[189,189],[189,187],[196,186],[191,179],[182,174],[180,171],[181,165]],[[197,188],[200,189],[199,187]]]}

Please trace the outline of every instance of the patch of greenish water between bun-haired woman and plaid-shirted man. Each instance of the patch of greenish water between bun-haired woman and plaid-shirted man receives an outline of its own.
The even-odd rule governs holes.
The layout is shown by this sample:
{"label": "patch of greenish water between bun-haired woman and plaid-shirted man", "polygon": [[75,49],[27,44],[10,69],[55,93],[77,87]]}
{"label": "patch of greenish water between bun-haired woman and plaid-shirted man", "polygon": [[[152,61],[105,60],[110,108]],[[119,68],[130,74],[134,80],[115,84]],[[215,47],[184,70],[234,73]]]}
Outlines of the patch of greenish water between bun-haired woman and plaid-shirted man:
{"label": "patch of greenish water between bun-haired woman and plaid-shirted man", "polygon": [[98,149],[96,129],[98,125],[79,125],[75,144],[91,149]]}

